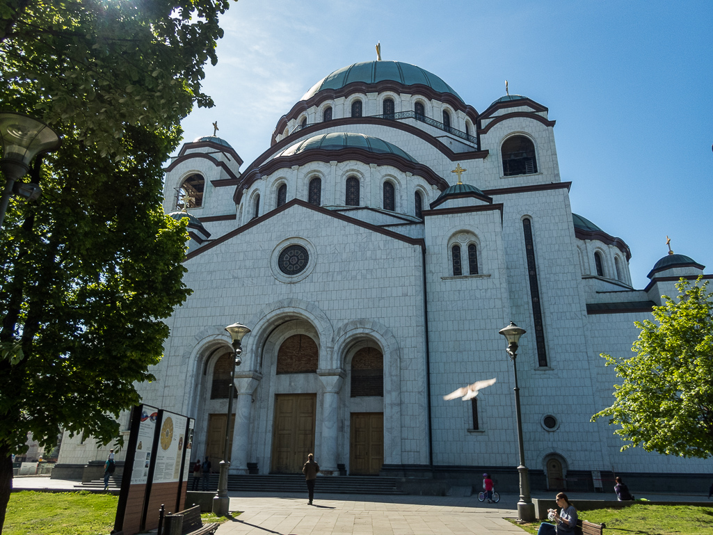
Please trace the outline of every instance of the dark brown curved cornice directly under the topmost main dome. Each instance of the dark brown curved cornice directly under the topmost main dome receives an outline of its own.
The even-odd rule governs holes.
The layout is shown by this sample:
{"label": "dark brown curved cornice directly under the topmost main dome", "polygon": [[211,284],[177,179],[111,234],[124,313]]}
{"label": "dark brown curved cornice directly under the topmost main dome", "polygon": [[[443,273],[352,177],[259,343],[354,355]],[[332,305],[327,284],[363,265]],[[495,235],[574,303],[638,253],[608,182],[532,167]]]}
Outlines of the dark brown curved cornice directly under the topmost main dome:
{"label": "dark brown curved cornice directly under the topmost main dome", "polygon": [[289,121],[292,121],[292,119],[296,120],[299,118],[300,113],[306,112],[309,108],[312,108],[312,106],[319,107],[324,101],[332,101],[335,98],[350,96],[354,93],[381,94],[388,91],[399,95],[420,95],[424,96],[427,100],[440,101],[448,104],[448,106],[451,106],[451,108],[456,111],[462,111],[465,113],[466,116],[473,121],[473,125],[476,124],[476,121],[478,120],[478,111],[476,111],[476,108],[473,108],[470,104],[464,103],[452,93],[438,93],[438,91],[434,91],[429,86],[424,86],[421,83],[404,86],[403,84],[393,80],[384,80],[377,83],[352,82],[339,89],[322,89],[322,91],[315,93],[306,101],[299,101],[292,106],[292,109],[285,113],[284,116],[280,117],[279,121],[277,121],[275,131],[272,133],[272,144],[275,144],[275,138],[277,138],[277,135],[282,133],[282,131],[287,128],[287,123]]}

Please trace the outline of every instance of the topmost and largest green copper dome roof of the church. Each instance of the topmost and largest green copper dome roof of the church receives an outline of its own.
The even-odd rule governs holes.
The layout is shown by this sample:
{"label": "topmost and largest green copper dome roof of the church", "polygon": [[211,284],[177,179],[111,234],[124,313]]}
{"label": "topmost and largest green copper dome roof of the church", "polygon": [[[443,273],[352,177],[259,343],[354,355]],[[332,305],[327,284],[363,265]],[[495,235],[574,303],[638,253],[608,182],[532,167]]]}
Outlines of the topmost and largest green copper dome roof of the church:
{"label": "topmost and largest green copper dome roof of the church", "polygon": [[404,86],[421,83],[438,93],[451,93],[463,102],[461,96],[434,73],[401,61],[362,61],[340,68],[315,83],[312,89],[304,93],[301,100],[306,101],[324,89],[341,89],[349,83],[377,83],[385,80],[399,82]]}

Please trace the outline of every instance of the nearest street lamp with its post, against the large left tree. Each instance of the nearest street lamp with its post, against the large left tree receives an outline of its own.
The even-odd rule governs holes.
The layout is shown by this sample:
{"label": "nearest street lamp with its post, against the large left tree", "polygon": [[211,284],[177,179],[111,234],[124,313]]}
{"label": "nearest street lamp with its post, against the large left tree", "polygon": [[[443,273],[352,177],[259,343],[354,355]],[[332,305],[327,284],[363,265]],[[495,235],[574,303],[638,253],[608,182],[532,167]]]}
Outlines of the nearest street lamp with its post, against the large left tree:
{"label": "nearest street lamp with its post, against the large left tree", "polygon": [[49,126],[22,113],[0,113],[0,142],[3,146],[0,168],[5,175],[5,189],[0,200],[0,228],[13,193],[34,200],[42,190],[36,184],[15,184],[30,170],[30,162],[39,153],[56,151],[61,139]]}

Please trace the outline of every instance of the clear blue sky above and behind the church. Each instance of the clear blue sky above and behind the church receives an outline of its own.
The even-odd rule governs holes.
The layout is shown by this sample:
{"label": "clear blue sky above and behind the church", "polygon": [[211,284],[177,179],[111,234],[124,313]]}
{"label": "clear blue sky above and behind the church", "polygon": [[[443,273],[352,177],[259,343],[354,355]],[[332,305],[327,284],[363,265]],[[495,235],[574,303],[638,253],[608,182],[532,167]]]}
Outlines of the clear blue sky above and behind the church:
{"label": "clear blue sky above and behind the church", "polygon": [[572,210],[630,246],[635,287],[666,235],[713,272],[713,1],[240,0],[222,27],[216,106],[185,141],[217,120],[245,169],[314,83],[381,41],[479,112],[505,80],[547,106]]}

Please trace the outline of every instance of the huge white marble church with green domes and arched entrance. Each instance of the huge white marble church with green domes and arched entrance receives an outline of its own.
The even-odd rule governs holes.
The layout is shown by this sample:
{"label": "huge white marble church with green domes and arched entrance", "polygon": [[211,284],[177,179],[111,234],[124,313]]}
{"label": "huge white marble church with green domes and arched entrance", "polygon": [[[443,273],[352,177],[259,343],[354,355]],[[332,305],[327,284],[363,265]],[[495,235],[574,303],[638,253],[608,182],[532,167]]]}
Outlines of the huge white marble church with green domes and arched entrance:
{"label": "huge white marble church with green domes and arched entrance", "polygon": [[[314,84],[242,171],[229,140],[185,143],[164,209],[190,219],[194,291],[140,392],[195,417],[196,454],[222,455],[224,327],[239,322],[252,332],[232,474],[296,473],[314,452],[324,476],[441,489],[491,472],[515,489],[513,365],[498,334],[513,321],[527,330],[518,381],[533,489],[593,489],[593,471],[607,489],[612,472],[633,487],[690,487],[711,472],[622,453],[614,429],[590,423],[613,401],[600,353],[630,355],[633,322],[704,266],[665,255],[633,288],[625,241],[572,213],[548,108],[516,95],[484,107],[422,68],[367,61]],[[492,377],[471,401],[443,400]],[[104,458],[65,437],[58,467]]]}

